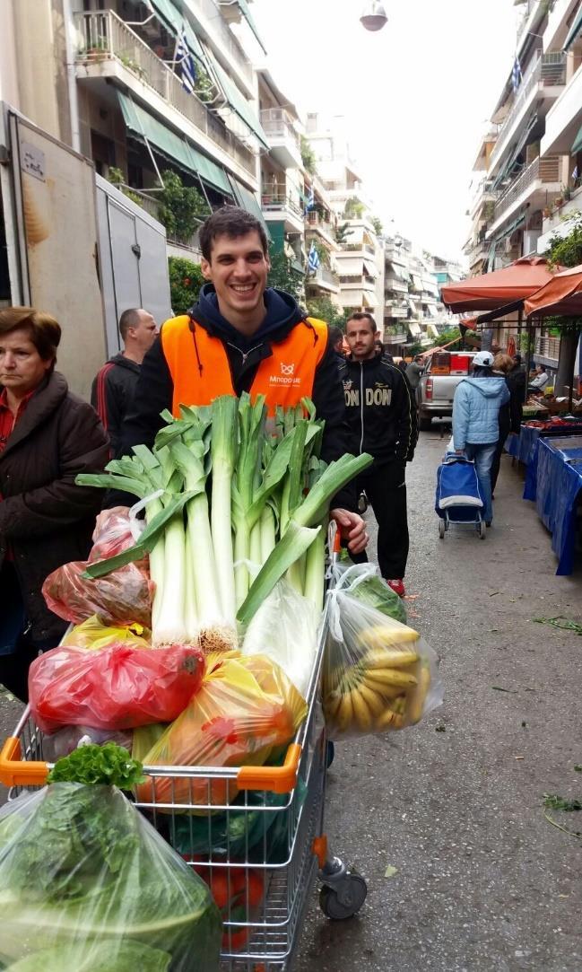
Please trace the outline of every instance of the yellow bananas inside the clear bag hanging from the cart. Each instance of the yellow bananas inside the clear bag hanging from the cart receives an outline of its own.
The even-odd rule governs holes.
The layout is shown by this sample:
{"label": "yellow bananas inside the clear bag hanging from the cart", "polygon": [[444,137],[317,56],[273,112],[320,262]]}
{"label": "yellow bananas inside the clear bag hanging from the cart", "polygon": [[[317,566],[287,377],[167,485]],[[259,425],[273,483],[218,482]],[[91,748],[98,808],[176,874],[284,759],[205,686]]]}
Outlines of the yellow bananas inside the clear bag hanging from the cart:
{"label": "yellow bananas inside the clear bag hanging from the cart", "polygon": [[358,657],[326,669],[323,703],[332,735],[383,732],[419,721],[430,685],[428,661],[416,650],[419,637],[397,623],[363,629]]}

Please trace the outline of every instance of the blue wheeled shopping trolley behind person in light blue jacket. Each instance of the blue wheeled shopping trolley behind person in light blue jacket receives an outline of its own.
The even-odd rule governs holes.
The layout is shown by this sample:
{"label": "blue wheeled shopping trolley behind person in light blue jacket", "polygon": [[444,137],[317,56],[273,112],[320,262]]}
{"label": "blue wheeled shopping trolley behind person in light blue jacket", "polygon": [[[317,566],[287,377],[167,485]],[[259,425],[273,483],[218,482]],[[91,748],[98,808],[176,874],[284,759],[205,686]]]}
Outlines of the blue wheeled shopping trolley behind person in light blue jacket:
{"label": "blue wheeled shopping trolley behind person in light blue jacket", "polygon": [[487,536],[483,519],[483,498],[475,464],[460,453],[447,452],[436,470],[434,509],[438,521],[438,536],[442,539],[452,523],[474,527],[479,537]]}

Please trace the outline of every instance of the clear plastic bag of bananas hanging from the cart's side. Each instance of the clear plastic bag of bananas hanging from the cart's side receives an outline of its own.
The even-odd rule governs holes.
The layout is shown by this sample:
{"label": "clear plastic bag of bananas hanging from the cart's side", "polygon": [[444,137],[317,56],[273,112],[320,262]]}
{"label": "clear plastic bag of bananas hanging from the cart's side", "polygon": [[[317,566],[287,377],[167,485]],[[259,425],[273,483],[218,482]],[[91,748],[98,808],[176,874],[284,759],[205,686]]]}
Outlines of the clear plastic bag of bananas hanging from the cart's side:
{"label": "clear plastic bag of bananas hanging from the cart's side", "polygon": [[322,703],[334,740],[415,725],[443,699],[427,642],[351,593],[370,570],[354,565],[327,593]]}

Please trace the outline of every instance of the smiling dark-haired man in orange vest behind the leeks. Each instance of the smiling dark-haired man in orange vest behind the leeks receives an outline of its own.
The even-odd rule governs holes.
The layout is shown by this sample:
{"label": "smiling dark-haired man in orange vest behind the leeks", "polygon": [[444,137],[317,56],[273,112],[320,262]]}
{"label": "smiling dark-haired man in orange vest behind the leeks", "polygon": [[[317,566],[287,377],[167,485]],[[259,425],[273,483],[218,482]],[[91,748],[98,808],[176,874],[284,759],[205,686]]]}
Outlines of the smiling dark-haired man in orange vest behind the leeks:
{"label": "smiling dark-haired man in orange vest behind the leeks", "polygon": [[[124,423],[120,454],[140,442],[152,445],[159,413],[181,404],[206,405],[221,395],[264,395],[269,414],[305,396],[325,419],[322,458],[350,452],[344,396],[327,325],[307,317],[291,295],[267,287],[270,269],[263,226],[233,206],[201,227],[201,268],[206,280],[198,303],[162,325],[144,358]],[[356,491],[335,498],[333,517],[352,553],[367,542]]]}

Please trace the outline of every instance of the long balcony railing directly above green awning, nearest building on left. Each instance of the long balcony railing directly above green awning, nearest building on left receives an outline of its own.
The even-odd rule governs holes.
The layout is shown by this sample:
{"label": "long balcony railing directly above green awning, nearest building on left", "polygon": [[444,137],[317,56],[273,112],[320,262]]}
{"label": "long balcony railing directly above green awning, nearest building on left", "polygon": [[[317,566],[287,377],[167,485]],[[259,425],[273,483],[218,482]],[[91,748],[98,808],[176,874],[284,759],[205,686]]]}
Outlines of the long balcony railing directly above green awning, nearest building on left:
{"label": "long balcony railing directly above green awning, nearest building on left", "polygon": [[[216,12],[215,12],[216,16]],[[79,64],[116,60],[180,112],[249,173],[255,175],[252,152],[223,126],[195,94],[188,94],[180,79],[113,11],[75,15],[81,38]]]}

